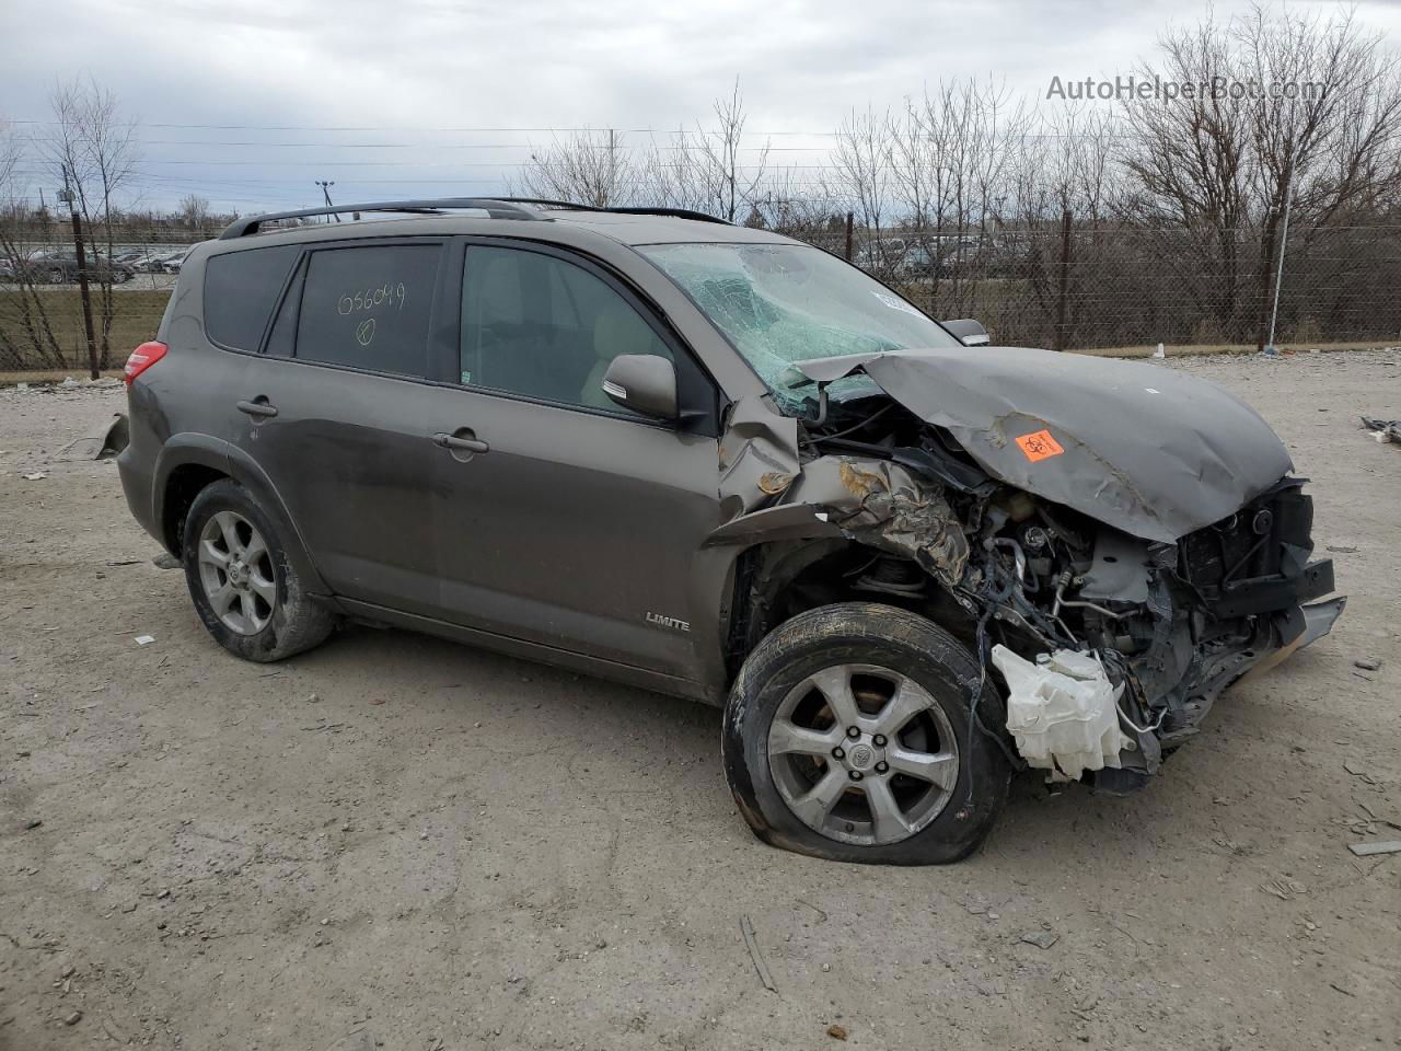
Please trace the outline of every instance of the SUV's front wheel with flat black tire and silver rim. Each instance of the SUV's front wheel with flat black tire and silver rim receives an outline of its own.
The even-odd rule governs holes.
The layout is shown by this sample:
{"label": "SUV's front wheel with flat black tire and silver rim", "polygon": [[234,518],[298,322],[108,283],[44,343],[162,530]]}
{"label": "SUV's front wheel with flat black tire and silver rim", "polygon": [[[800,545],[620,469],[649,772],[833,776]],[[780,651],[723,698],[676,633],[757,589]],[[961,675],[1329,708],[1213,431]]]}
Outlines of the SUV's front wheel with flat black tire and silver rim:
{"label": "SUV's front wheel with flat black tire and silver rim", "polygon": [[[814,858],[967,858],[1012,778],[998,744],[968,733],[978,681],[967,649],[905,610],[842,603],[786,621],[744,661],[726,705],[722,753],[740,813],[764,842]],[[988,727],[1005,719],[991,681],[979,715]]]}

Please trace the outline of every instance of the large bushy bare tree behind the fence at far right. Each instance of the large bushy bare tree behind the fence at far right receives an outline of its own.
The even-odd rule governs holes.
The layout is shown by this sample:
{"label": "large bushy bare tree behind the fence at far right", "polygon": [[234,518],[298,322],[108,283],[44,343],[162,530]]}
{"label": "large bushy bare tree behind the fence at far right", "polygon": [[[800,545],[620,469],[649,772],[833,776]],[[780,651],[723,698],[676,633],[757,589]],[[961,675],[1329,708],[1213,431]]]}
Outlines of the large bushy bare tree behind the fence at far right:
{"label": "large bushy bare tree behind the fence at far right", "polygon": [[1264,346],[1286,205],[1309,230],[1397,185],[1397,59],[1351,14],[1264,6],[1159,45],[1157,76],[1195,90],[1125,104],[1125,219],[1160,231],[1156,256],[1224,334]]}

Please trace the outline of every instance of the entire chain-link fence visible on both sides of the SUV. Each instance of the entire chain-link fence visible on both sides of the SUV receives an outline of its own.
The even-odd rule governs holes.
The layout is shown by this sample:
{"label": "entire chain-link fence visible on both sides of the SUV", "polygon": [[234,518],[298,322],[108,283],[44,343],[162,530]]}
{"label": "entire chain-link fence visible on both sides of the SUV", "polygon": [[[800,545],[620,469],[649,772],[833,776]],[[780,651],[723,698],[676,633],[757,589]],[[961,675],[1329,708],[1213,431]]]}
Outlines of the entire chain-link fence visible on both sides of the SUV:
{"label": "entire chain-link fence visible on both sides of the SUV", "polygon": [[[111,282],[92,289],[101,367],[150,339],[189,245],[209,231],[125,231]],[[1066,350],[1255,348],[1269,336],[1275,252],[1258,231],[1210,231],[1073,219],[992,233],[841,223],[793,235],[898,287],[936,318],[976,318],[995,343]],[[56,234],[24,242],[25,261],[71,256]],[[106,265],[106,248],[99,261]],[[0,371],[80,370],[87,339],[76,275],[0,255]],[[67,269],[64,269],[67,266]],[[60,273],[62,272],[62,273]],[[1401,227],[1293,227],[1285,247],[1275,342],[1401,342]]]}

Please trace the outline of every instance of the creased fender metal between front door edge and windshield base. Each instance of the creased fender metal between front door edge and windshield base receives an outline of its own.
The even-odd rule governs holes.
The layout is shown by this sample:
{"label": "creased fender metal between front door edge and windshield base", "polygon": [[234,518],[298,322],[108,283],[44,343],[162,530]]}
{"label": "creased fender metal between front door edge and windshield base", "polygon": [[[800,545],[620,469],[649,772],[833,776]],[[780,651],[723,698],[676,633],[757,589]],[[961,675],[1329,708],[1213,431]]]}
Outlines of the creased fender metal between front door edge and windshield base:
{"label": "creased fender metal between front door edge and windshield base", "polygon": [[720,500],[726,517],[772,502],[799,475],[797,420],[766,397],[740,398],[720,439]]}

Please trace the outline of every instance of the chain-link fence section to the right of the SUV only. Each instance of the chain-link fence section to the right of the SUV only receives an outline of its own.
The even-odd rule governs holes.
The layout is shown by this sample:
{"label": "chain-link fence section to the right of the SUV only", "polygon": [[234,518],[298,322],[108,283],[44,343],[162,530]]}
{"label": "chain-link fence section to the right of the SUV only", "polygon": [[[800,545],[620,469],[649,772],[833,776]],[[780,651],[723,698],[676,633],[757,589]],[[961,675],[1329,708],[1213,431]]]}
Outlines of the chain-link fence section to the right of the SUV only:
{"label": "chain-link fence section to the right of the SUV only", "polygon": [[[1258,231],[1090,226],[808,233],[936,318],[1066,350],[1251,348],[1269,339],[1276,251]],[[850,248],[848,249],[848,244]],[[1290,228],[1275,342],[1401,342],[1401,227]],[[1304,348],[1307,349],[1307,348]]]}

